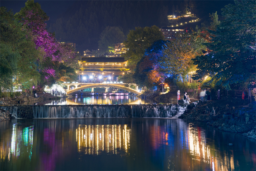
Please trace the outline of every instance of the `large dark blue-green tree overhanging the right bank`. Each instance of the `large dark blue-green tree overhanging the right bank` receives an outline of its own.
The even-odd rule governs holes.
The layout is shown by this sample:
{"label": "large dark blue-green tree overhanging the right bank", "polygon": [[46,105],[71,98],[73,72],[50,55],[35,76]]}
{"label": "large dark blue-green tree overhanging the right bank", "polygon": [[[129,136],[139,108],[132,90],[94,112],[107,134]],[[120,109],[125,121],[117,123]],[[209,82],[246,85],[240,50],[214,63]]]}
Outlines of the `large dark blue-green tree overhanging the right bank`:
{"label": "large dark blue-green tree overhanging the right bank", "polygon": [[224,19],[212,34],[212,42],[207,47],[213,52],[206,56],[197,56],[194,63],[198,70],[195,78],[208,75],[216,84],[222,84],[227,90],[232,84],[255,78],[255,37],[256,6],[255,1],[234,1],[222,9]]}

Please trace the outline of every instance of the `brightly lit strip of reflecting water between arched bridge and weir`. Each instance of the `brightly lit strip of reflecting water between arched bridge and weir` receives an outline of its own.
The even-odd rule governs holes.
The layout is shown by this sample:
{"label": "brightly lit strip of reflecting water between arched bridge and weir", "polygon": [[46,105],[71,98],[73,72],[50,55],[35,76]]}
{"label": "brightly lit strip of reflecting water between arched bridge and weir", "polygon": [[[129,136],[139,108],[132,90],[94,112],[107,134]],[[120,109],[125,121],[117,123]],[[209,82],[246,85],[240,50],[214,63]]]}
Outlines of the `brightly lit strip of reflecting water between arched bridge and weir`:
{"label": "brightly lit strip of reflecting water between arched bridge and weir", "polygon": [[136,96],[90,96],[69,97],[67,99],[53,100],[45,105],[81,105],[81,104],[157,104],[152,100],[137,98]]}

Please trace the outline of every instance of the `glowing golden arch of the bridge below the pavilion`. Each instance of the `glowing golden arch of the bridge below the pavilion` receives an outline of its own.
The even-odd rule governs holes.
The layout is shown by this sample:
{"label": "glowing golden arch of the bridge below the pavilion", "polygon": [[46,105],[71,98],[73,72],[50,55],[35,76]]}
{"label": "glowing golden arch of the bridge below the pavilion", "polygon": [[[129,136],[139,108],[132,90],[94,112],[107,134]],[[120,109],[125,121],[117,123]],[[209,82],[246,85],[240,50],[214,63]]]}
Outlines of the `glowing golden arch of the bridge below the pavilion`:
{"label": "glowing golden arch of the bridge below the pavilion", "polygon": [[87,84],[87,85],[83,85],[81,87],[76,87],[75,89],[72,89],[72,90],[68,90],[66,93],[67,94],[70,94],[70,93],[74,93],[76,91],[79,91],[79,90],[83,90],[85,88],[94,88],[94,87],[113,87],[113,88],[120,88],[120,89],[123,89],[123,90],[127,90],[129,92],[132,92],[132,93],[135,93],[135,94],[138,94],[140,95],[141,93],[134,90],[134,89],[131,89],[129,87],[125,87],[124,85],[122,84]]}

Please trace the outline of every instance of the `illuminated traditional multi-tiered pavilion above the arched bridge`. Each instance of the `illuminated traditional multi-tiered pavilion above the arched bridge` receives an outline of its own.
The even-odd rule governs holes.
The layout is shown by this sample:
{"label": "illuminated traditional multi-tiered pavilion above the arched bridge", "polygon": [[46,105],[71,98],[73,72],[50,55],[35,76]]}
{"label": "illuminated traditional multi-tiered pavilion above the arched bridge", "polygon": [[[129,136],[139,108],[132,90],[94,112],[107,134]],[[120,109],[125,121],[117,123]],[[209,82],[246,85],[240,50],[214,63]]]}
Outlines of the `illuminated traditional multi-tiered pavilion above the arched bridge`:
{"label": "illuminated traditional multi-tiered pavilion above the arched bridge", "polygon": [[78,63],[79,82],[118,81],[118,76],[130,70],[123,57],[82,57]]}

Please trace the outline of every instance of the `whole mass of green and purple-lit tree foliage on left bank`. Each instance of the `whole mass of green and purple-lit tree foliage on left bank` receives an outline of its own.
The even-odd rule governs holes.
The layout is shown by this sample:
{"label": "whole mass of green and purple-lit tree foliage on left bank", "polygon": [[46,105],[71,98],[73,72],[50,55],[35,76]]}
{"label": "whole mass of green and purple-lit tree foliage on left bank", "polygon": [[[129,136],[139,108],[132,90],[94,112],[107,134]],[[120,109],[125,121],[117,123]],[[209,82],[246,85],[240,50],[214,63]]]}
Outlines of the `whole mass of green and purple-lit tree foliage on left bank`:
{"label": "whole mass of green and purple-lit tree foliage on left bank", "polygon": [[[22,84],[29,89],[39,83],[44,86],[45,79],[53,77],[60,80],[59,73],[75,75],[77,53],[71,46],[60,44],[53,34],[48,33],[44,23],[49,19],[40,4],[28,0],[19,13],[13,15],[1,7],[1,49],[0,49],[0,85],[11,89],[12,83]],[[56,63],[66,65],[65,72],[59,72]],[[63,67],[62,67],[63,68]],[[76,78],[74,78],[76,79]]]}

